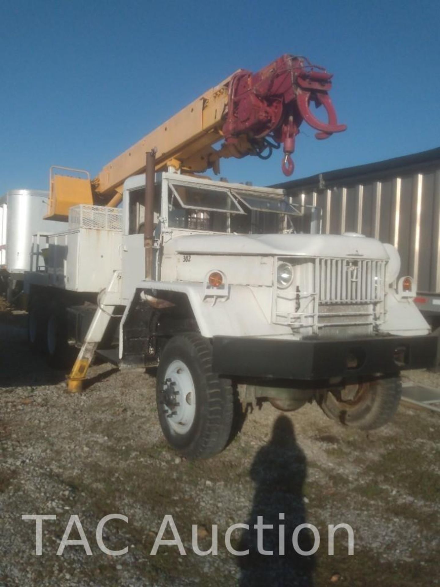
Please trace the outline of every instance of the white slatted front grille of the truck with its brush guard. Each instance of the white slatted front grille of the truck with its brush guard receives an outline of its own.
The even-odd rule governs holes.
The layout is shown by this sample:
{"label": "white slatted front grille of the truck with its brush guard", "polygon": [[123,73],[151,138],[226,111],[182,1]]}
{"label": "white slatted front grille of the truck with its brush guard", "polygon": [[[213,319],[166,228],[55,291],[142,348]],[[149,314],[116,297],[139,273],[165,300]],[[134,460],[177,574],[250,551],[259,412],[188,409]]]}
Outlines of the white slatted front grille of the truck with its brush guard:
{"label": "white slatted front grille of the truck with its brush guard", "polygon": [[290,288],[275,283],[273,322],[302,336],[370,335],[386,312],[384,259],[279,258],[293,266]]}

